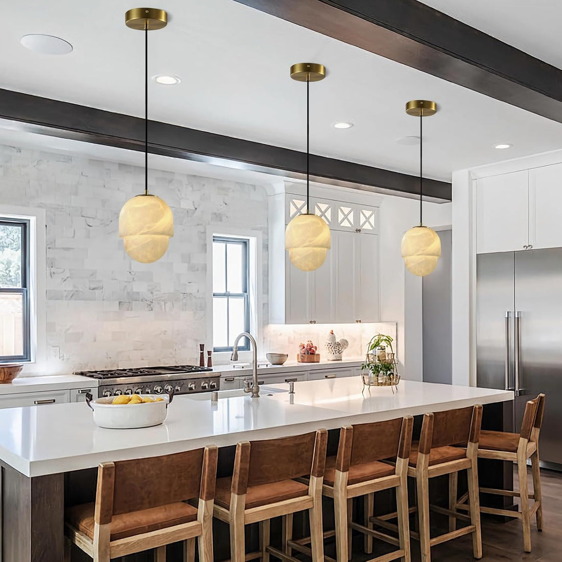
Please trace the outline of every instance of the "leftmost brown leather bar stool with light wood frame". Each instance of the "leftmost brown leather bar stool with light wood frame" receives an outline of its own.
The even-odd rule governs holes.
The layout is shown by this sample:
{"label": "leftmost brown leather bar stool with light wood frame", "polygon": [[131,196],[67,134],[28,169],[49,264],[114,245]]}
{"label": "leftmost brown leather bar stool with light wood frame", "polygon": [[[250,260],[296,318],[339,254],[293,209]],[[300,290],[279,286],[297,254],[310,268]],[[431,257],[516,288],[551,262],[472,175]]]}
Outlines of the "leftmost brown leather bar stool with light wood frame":
{"label": "leftmost brown leather bar stool with light wood frame", "polygon": [[[66,510],[65,562],[71,542],[94,562],[149,549],[165,562],[166,545],[178,541],[192,562],[195,538],[201,562],[212,562],[216,461],[217,448],[209,446],[99,465],[96,501]],[[197,508],[185,501],[194,498]]]}

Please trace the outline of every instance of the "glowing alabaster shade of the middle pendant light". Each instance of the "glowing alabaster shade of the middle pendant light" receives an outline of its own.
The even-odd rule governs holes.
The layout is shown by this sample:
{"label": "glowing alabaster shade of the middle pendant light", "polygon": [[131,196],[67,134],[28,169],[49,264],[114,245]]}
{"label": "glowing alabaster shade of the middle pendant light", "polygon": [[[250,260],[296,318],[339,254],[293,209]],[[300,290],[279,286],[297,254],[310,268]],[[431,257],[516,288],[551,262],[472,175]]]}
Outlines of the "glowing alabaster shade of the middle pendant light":
{"label": "glowing alabaster shade of the middle pendant light", "polygon": [[332,246],[330,229],[318,215],[297,215],[285,230],[285,249],[291,263],[302,271],[318,269]]}

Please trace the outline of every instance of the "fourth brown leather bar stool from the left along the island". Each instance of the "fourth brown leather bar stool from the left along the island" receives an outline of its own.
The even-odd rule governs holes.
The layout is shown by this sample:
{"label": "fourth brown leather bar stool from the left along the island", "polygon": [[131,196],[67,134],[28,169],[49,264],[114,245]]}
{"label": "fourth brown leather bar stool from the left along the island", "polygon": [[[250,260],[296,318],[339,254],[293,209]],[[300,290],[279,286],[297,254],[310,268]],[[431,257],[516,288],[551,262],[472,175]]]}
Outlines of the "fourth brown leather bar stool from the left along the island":
{"label": "fourth brown leather bar stool from the left along the island", "polygon": [[[477,464],[481,422],[482,406],[479,405],[425,414],[419,443],[412,443],[408,476],[416,480],[419,534],[410,532],[410,535],[419,538],[422,562],[431,560],[432,546],[465,534],[472,534],[474,558],[482,558]],[[464,445],[464,448],[456,445]],[[468,519],[469,525],[430,537],[429,479],[442,474],[454,474],[456,477],[460,470],[465,469],[468,472],[469,516],[457,516]],[[454,507],[455,500],[456,498],[450,499],[450,507]],[[454,509],[438,506],[431,506],[431,509],[449,516],[456,514]]]}

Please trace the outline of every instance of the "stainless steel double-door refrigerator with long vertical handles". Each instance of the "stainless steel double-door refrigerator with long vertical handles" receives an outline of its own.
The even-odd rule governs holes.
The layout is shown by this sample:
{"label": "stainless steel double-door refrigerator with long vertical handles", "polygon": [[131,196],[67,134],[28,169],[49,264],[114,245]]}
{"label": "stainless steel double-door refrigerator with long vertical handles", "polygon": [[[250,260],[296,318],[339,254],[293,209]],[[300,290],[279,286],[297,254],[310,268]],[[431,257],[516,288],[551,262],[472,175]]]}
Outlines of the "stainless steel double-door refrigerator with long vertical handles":
{"label": "stainless steel double-door refrigerator with long vertical handles", "polygon": [[[562,469],[562,248],[477,256],[477,384],[546,395],[540,457]],[[555,463],[556,465],[554,465]]]}

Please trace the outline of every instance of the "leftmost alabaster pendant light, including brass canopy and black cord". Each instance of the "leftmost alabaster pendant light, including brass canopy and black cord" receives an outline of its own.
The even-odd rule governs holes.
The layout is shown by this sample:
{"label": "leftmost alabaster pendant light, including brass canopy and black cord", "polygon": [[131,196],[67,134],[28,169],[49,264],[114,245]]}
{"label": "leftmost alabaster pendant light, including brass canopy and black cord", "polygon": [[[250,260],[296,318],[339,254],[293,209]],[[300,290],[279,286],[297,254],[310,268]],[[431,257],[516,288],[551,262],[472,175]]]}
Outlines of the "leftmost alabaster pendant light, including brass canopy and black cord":
{"label": "leftmost alabaster pendant light, including brass canopy and black cord", "polygon": [[119,213],[119,237],[133,260],[159,260],[174,235],[174,217],[160,197],[148,193],[148,31],[165,28],[167,14],[156,8],[133,8],[125,25],[144,31],[144,193],[129,199]]}

